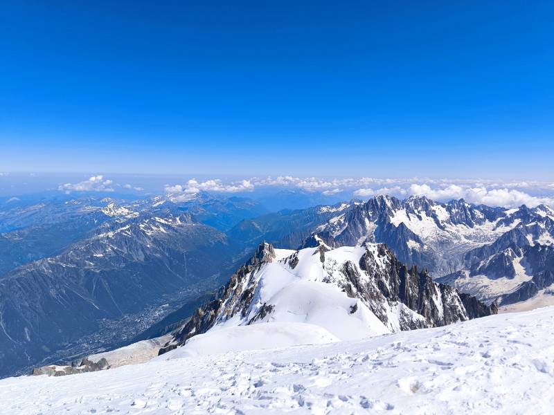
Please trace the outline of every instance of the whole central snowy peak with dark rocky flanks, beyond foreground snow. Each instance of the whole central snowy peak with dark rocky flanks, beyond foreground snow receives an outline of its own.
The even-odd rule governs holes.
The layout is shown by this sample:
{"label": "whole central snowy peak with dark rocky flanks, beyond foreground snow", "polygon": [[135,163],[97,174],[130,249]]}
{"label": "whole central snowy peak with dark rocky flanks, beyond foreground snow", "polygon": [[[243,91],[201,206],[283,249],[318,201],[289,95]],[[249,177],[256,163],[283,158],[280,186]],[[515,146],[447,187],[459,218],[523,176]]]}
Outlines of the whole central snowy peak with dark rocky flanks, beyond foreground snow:
{"label": "whole central snowy peak with dark rocky flanks, beyond foreground snow", "polygon": [[163,351],[209,330],[263,322],[314,324],[352,340],[497,312],[495,305],[433,282],[426,271],[407,268],[384,244],[331,249],[317,237],[312,241],[314,247],[301,250],[260,244]]}

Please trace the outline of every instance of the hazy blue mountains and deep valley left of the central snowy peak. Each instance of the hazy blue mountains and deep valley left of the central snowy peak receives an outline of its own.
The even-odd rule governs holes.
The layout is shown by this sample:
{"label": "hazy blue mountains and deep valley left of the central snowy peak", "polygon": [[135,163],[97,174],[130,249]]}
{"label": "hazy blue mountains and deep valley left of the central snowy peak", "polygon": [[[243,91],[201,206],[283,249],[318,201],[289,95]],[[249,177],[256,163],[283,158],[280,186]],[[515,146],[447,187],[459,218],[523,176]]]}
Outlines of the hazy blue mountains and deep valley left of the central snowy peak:
{"label": "hazy blue mountains and deep valley left of the central snowy peak", "polygon": [[204,193],[37,195],[1,206],[0,377],[125,344],[172,311],[186,317],[177,312],[198,306],[256,247],[220,229],[262,212]]}

